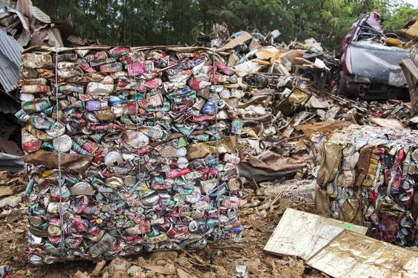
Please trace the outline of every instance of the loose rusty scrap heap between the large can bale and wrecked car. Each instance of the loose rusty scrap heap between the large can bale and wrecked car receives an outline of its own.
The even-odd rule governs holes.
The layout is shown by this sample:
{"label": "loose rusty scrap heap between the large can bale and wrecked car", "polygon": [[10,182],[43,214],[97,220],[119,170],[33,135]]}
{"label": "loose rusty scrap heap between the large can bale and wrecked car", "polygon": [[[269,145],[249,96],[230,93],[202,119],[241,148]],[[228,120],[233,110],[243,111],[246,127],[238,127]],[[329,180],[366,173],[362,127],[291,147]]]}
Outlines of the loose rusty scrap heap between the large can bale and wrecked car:
{"label": "loose rusty scrap heap between the large can bale and wrecked car", "polygon": [[217,47],[220,40],[221,51],[233,50],[227,65],[234,67],[242,89],[238,150],[240,173],[247,179],[311,178],[318,147],[332,131],[350,124],[416,124],[410,122],[410,104],[403,101],[334,95],[339,63],[314,39],[286,45],[272,42],[279,35],[275,31],[227,34],[225,26],[215,26],[210,45]]}

